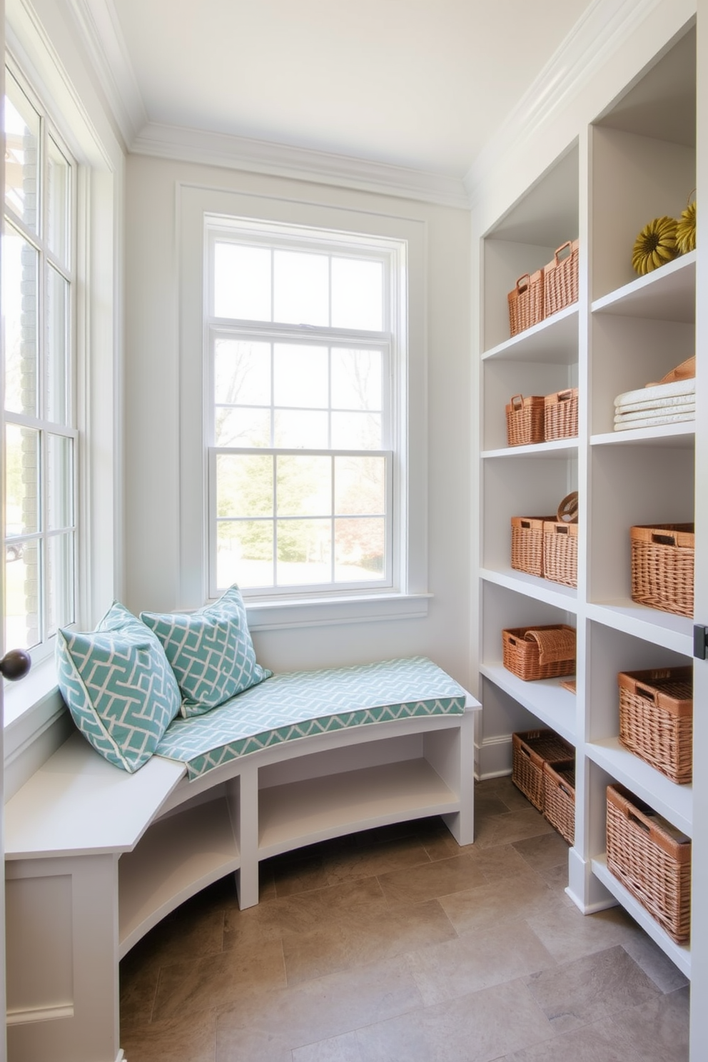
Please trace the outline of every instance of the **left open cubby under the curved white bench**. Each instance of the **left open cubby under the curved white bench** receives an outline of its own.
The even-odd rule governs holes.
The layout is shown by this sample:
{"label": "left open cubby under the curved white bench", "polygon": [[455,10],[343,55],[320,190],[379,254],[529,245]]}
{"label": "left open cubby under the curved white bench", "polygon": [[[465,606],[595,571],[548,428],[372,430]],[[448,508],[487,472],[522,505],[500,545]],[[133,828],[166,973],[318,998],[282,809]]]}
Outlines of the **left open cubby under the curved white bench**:
{"label": "left open cubby under the curved white bench", "polygon": [[225,800],[156,822],[118,863],[120,957],[175,907],[239,867]]}

